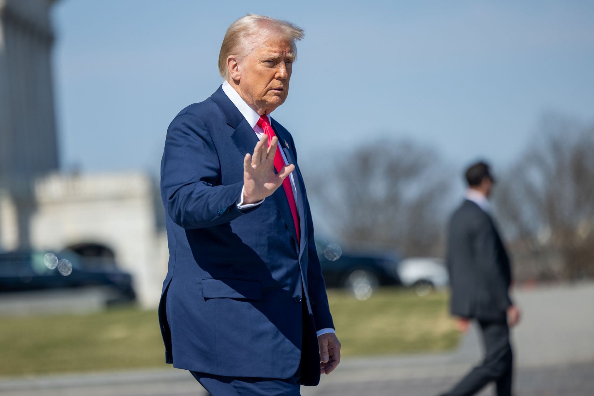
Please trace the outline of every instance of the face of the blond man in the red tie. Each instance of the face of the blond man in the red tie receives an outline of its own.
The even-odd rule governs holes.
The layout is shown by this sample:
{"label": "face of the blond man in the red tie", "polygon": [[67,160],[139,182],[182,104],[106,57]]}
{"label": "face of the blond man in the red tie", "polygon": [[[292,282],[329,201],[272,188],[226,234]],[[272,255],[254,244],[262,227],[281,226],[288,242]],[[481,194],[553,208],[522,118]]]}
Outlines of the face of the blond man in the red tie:
{"label": "face of the blond man in the red tie", "polygon": [[290,42],[270,36],[239,61],[241,96],[258,114],[269,114],[287,99],[293,59]]}

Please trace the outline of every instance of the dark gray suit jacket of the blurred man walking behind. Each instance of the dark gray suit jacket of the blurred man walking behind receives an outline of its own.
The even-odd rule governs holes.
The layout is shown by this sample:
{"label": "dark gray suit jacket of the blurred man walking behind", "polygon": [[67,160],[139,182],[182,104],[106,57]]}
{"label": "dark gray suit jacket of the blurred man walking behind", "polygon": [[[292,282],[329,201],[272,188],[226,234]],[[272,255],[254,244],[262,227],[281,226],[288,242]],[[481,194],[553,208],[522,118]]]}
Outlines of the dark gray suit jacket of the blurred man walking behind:
{"label": "dark gray suit jacket of the blurred man walking behind", "polygon": [[510,259],[491,217],[465,200],[448,225],[446,264],[451,312],[464,318],[505,318],[511,306]]}

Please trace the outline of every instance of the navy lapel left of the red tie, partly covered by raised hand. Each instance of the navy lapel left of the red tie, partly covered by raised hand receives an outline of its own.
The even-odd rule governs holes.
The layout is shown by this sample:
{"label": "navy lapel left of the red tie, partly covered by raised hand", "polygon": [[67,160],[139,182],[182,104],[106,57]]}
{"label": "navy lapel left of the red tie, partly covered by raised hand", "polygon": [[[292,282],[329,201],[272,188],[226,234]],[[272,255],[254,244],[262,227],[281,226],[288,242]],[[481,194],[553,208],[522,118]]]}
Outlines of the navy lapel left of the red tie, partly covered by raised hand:
{"label": "navy lapel left of the red tie, partly covered by raised hand", "polygon": [[[217,89],[216,92],[211,95],[211,99],[213,99],[213,101],[223,112],[223,115],[225,115],[227,124],[233,128],[230,137],[239,152],[241,152],[242,156],[244,157],[247,153],[252,154],[254,152],[256,143],[258,143],[258,136],[249,125],[248,121],[245,120],[238,108],[236,108],[228,96],[225,95],[225,92],[223,92],[221,87],[219,87],[219,89]],[[287,201],[285,190],[282,186],[274,191],[272,198],[274,199],[274,203],[276,203],[276,206],[279,209],[279,212],[287,227],[289,227],[289,231],[293,237],[293,240],[295,240],[295,246],[297,247],[297,232],[295,230],[295,222],[293,222],[291,208],[289,206],[289,202]],[[299,249],[299,247],[297,248]]]}

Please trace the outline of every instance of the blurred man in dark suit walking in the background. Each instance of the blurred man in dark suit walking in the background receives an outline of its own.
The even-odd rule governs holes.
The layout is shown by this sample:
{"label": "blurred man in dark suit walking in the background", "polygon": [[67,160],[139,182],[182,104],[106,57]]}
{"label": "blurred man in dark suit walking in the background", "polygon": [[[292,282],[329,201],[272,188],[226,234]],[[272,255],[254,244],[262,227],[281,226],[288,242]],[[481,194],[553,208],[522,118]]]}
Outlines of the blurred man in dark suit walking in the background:
{"label": "blurred man in dark suit walking in the background", "polygon": [[484,162],[466,171],[466,199],[448,226],[447,267],[451,312],[466,332],[476,319],[485,344],[485,360],[462,379],[448,396],[473,395],[495,381],[498,396],[511,395],[510,326],[520,312],[509,296],[510,259],[492,219],[488,197],[494,179]]}

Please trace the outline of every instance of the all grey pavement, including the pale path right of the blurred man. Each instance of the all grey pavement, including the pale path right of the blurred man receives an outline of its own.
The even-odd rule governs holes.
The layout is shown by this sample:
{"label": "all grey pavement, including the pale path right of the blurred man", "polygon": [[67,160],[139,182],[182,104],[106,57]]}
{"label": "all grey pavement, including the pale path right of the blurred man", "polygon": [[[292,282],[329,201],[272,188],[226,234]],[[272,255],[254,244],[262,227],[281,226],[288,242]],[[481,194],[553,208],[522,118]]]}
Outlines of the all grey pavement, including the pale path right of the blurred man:
{"label": "all grey pavement, including the pale path right of the blurred man", "polygon": [[[594,395],[594,284],[518,291],[525,315],[514,331],[517,396]],[[344,360],[304,396],[432,396],[446,391],[480,358],[471,331],[453,354]],[[1,359],[1,352],[0,352]],[[0,379],[3,396],[205,396],[182,370]],[[481,396],[492,394],[485,389]]]}

